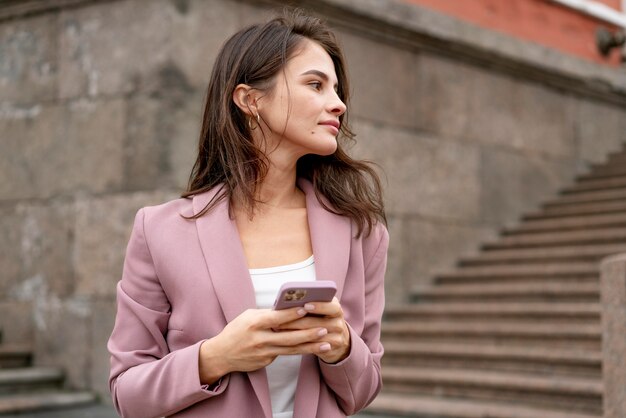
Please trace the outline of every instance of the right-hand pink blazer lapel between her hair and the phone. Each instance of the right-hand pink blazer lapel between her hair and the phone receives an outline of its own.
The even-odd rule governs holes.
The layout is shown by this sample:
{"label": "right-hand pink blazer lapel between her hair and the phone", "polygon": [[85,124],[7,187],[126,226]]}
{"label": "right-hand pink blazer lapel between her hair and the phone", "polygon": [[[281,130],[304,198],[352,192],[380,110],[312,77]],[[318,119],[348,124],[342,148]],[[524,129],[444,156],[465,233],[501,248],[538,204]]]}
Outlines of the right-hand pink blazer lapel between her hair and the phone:
{"label": "right-hand pink blazer lapel between her hair and the phone", "polygon": [[337,284],[337,298],[341,299],[350,260],[352,222],[324,209],[311,182],[299,179],[298,185],[306,194],[315,275],[317,280],[333,280]]}

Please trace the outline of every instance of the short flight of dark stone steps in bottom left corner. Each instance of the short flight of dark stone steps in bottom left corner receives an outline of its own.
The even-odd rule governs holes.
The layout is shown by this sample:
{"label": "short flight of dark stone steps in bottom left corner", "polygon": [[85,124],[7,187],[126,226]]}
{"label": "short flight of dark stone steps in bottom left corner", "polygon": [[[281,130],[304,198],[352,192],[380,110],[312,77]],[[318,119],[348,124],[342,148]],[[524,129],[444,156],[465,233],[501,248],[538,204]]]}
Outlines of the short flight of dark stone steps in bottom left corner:
{"label": "short flight of dark stone steps in bottom left corner", "polygon": [[91,393],[65,390],[63,379],[59,369],[33,367],[29,346],[0,344],[0,415],[28,414],[95,402]]}

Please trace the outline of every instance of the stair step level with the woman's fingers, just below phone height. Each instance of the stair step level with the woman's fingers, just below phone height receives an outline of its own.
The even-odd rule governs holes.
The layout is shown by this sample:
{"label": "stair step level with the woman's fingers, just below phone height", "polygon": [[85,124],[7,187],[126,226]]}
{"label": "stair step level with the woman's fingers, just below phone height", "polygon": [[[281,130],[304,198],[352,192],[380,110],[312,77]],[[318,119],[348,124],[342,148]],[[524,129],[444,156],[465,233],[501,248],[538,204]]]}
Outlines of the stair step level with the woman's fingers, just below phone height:
{"label": "stair step level with the woman's fingers, just below phone height", "polygon": [[459,302],[450,304],[405,304],[385,308],[386,322],[419,323],[424,321],[454,321],[464,324],[511,323],[514,321],[550,321],[576,323],[600,327],[599,303],[546,303],[546,302]]}

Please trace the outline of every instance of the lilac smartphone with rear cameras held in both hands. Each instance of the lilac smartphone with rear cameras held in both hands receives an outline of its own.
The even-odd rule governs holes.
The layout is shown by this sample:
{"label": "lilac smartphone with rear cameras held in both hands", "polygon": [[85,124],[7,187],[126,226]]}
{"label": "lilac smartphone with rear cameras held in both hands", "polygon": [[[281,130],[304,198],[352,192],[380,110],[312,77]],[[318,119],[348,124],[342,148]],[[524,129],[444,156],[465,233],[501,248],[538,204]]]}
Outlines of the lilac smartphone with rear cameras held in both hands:
{"label": "lilac smartphone with rear cameras held in both hands", "polygon": [[331,280],[287,282],[278,291],[274,309],[304,306],[308,302],[330,302],[335,293],[337,293],[337,286]]}

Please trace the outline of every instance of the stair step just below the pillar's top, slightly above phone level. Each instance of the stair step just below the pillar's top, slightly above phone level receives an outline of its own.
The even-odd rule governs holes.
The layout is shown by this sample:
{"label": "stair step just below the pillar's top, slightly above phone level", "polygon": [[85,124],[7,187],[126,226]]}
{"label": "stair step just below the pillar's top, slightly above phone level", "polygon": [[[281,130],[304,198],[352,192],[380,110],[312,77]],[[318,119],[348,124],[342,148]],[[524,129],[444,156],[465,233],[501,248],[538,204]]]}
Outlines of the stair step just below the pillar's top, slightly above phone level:
{"label": "stair step just below the pillar's top, slightly above phone level", "polygon": [[460,267],[457,271],[438,274],[436,283],[455,283],[459,281],[486,281],[510,278],[588,278],[597,277],[598,263],[550,263],[529,265],[491,265]]}

